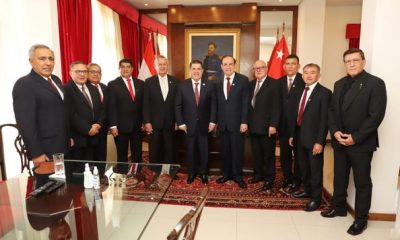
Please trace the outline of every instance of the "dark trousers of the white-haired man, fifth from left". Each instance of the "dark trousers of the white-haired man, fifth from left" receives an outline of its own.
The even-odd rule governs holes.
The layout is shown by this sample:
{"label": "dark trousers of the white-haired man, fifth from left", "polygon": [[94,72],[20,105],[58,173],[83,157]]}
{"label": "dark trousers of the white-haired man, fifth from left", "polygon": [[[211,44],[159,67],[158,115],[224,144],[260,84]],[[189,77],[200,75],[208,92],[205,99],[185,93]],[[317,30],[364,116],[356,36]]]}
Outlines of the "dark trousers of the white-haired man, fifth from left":
{"label": "dark trousers of the white-haired man, fifth from left", "polygon": [[150,135],[151,163],[169,163],[173,161],[174,129],[153,129]]}

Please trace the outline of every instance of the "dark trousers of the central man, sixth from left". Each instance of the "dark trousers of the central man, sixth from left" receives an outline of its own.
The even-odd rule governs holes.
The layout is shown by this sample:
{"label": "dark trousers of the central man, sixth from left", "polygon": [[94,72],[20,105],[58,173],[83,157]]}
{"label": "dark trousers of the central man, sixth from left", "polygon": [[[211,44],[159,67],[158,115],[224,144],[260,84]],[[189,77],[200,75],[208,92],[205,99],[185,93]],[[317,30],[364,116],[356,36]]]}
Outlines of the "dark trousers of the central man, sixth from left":
{"label": "dark trousers of the central man, sixth from left", "polygon": [[[193,135],[186,135],[187,143],[187,167],[189,175],[207,174],[208,165],[208,135],[196,131]],[[200,167],[197,171],[196,160]]]}

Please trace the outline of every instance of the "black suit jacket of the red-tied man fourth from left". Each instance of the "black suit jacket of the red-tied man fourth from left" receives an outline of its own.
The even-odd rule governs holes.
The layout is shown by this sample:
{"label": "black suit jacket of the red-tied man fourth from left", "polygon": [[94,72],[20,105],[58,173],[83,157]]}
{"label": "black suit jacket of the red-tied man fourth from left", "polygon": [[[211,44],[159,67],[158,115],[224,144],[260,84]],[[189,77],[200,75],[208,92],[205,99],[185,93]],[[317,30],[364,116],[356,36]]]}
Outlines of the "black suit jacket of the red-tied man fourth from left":
{"label": "black suit jacket of the red-tied man fourth from left", "polygon": [[142,104],[144,82],[133,78],[135,101],[131,99],[122,77],[108,83],[108,120],[122,133],[140,131],[142,127]]}

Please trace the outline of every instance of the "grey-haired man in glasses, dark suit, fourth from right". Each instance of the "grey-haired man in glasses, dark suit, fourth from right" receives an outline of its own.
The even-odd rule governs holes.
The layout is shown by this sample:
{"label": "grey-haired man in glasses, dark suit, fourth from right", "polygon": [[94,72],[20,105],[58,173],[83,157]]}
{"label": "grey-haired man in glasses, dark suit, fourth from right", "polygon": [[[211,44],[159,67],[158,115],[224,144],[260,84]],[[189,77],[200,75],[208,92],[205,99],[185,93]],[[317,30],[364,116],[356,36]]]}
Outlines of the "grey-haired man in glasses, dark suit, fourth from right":
{"label": "grey-haired man in glasses, dark suit, fourth from right", "polygon": [[250,82],[249,133],[254,176],[249,183],[265,181],[269,190],[275,181],[276,129],[281,114],[279,82],[267,77],[267,64],[258,60],[253,66],[255,80]]}

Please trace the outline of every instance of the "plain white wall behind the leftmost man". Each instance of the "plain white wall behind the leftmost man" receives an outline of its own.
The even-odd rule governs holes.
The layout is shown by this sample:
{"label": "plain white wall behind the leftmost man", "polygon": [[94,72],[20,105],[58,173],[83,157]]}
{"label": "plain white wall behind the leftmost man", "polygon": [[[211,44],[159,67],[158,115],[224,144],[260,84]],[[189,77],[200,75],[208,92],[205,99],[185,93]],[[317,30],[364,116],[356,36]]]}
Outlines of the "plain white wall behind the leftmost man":
{"label": "plain white wall behind the leftmost man", "polygon": [[[0,124],[15,123],[12,88],[21,76],[31,70],[28,50],[43,43],[54,50],[55,73],[61,73],[58,37],[57,1],[3,0],[0,8]],[[8,157],[6,156],[6,159]],[[12,159],[12,157],[8,158]],[[15,161],[18,161],[14,158]],[[7,165],[8,177],[19,172],[19,166]]]}

